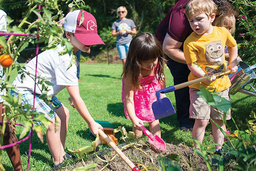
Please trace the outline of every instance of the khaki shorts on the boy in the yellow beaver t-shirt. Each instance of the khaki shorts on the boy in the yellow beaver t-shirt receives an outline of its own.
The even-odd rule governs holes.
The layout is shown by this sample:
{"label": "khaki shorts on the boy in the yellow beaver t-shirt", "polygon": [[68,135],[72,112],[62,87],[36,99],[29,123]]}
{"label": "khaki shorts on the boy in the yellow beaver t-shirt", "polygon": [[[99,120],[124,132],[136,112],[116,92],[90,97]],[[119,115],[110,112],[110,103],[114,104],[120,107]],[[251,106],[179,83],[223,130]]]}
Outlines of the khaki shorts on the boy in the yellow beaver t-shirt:
{"label": "khaki shorts on the boy in the yellow beaver t-shirt", "polygon": [[[216,109],[213,106],[208,105],[203,98],[201,98],[197,92],[198,89],[190,88],[190,119],[216,119],[216,120],[222,120],[223,118],[223,111]],[[217,94],[227,100],[230,101],[230,98],[228,96],[229,88],[220,92],[217,92]],[[230,109],[227,112],[226,120],[231,119],[230,115]],[[221,116],[221,117],[220,117]]]}

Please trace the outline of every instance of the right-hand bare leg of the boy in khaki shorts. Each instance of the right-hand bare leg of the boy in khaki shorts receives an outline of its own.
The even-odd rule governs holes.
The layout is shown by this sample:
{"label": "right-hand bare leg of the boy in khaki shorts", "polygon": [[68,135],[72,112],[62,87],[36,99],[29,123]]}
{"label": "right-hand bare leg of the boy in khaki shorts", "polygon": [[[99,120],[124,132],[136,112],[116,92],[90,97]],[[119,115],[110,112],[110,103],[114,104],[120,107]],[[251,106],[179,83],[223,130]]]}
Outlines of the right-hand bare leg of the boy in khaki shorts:
{"label": "right-hand bare leg of the boy in khaki shorts", "polygon": [[[213,119],[213,121],[215,121],[222,129],[224,129],[224,125],[223,125],[222,120]],[[220,129],[212,122],[211,122],[211,129],[212,129],[212,135],[213,135],[214,142],[216,144],[223,145],[224,135],[222,134]],[[220,145],[215,145],[215,149],[216,150],[221,149],[222,147]]]}

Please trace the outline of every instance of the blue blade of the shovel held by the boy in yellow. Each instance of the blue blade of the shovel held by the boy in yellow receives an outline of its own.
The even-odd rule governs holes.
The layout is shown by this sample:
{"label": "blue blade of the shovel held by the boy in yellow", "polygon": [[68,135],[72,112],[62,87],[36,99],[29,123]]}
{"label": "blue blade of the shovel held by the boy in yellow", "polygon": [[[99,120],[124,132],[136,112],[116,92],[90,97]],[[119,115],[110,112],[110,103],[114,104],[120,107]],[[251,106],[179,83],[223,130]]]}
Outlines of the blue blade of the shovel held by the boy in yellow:
{"label": "blue blade of the shovel held by the boy in yellow", "polygon": [[176,114],[171,100],[167,97],[153,102],[152,110],[156,120]]}

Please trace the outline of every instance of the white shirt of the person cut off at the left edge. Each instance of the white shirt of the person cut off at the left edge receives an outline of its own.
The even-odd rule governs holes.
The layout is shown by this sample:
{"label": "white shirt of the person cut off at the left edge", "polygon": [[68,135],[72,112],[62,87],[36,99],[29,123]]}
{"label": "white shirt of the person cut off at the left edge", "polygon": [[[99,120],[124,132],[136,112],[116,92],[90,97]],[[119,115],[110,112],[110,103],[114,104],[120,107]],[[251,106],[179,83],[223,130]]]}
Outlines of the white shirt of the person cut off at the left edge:
{"label": "white shirt of the person cut off at the left edge", "polygon": [[[3,10],[0,10],[0,31],[1,32],[7,32],[6,30],[6,26],[7,26],[7,23],[6,23],[6,13],[3,11]],[[5,81],[5,75],[3,76],[3,67],[0,65],[0,78]],[[4,102],[5,100],[1,97],[1,96],[5,96],[6,95],[6,90],[2,90],[0,92],[0,103],[1,102]]]}

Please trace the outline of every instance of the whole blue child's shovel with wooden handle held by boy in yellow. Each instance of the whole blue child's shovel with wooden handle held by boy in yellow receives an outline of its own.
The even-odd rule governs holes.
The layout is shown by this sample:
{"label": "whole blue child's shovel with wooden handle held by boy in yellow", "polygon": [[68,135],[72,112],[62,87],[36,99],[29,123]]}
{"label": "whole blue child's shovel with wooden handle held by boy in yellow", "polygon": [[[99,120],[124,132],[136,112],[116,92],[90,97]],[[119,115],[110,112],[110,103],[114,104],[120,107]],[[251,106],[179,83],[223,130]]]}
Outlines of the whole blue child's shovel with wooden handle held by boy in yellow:
{"label": "whole blue child's shovel with wooden handle held by boy in yellow", "polygon": [[[216,77],[219,77],[219,76],[222,76],[225,74],[229,74],[230,72],[231,72],[231,70],[227,70],[227,71],[218,72],[214,75]],[[177,84],[175,86],[169,86],[162,90],[157,91],[156,92],[157,101],[152,103],[152,110],[153,110],[155,119],[158,120],[158,119],[165,118],[165,117],[168,117],[168,116],[176,113],[171,100],[168,99],[167,97],[161,99],[160,93],[172,92],[174,90],[178,90],[178,89],[187,87],[189,85],[205,81],[207,79],[209,79],[209,76],[204,76],[204,77],[197,78],[197,79],[185,82],[185,83]]]}

